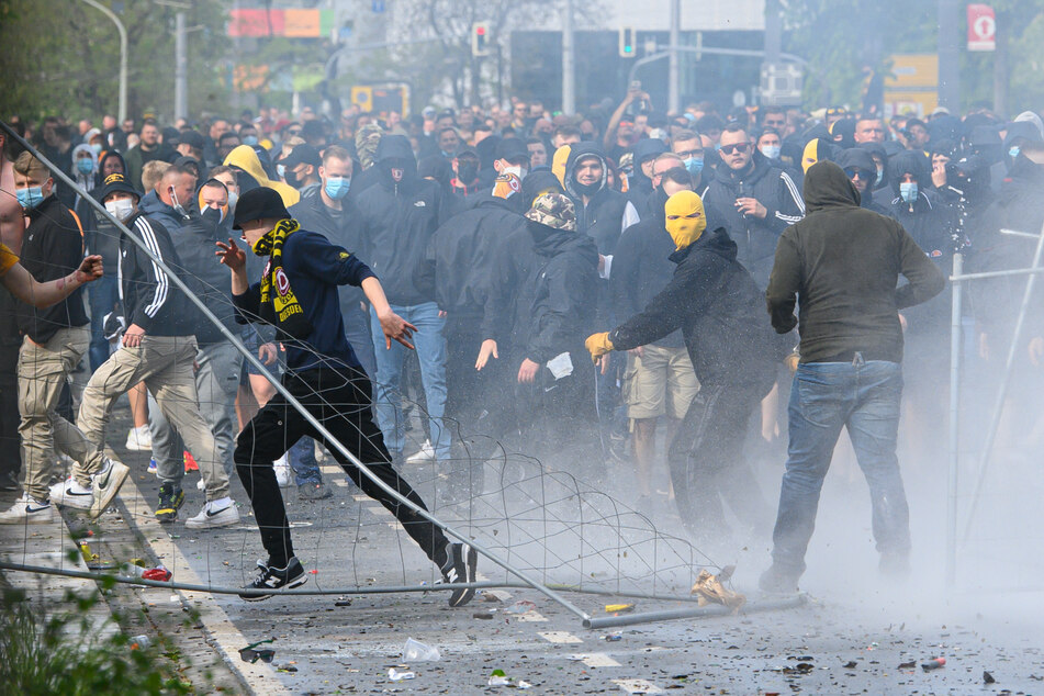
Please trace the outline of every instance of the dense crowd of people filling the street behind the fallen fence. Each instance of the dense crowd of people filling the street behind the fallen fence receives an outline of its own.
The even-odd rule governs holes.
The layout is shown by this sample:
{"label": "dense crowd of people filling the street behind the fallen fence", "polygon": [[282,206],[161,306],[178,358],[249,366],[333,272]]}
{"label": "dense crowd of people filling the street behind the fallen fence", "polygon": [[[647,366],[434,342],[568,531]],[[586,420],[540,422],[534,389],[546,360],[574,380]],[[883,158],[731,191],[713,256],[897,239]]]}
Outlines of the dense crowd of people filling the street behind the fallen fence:
{"label": "dense crowd of people filling the street behind the fallen fence", "polygon": [[[323,436],[289,415],[231,333],[324,424],[336,414],[321,401],[351,412],[339,439],[420,507],[403,465],[445,464],[442,495],[462,502],[482,492],[474,462],[503,442],[588,481],[627,464],[637,508],[674,498],[696,539],[729,535],[726,508],[744,534],[767,538],[773,506],[750,454],[784,456],[789,373],[798,363],[898,362],[905,343],[910,438],[932,451],[938,440],[916,424],[940,422],[946,405],[951,307],[941,279],[956,251],[973,270],[1029,265],[1035,242],[1001,231],[1035,234],[1044,220],[1044,124],[1032,112],[1008,121],[940,108],[885,121],[844,108],[725,112],[704,102],[664,113],[632,89],[615,109],[583,114],[513,99],[508,109],[426,108],[409,117],[357,109],[339,120],[311,109],[291,117],[271,108],[168,126],[109,115],[100,127],[60,117],[11,125],[78,186],[0,135],[4,245],[37,282],[76,271],[85,251],[101,258],[103,274],[86,298],[77,288],[48,308],[4,293],[0,484],[21,487],[23,498],[0,523],[54,519],[54,504],[104,510],[127,475],[104,454],[109,415],[127,394],[126,447],[153,453],[160,521],[178,519],[186,470],[198,467],[205,502],[186,525],[237,523],[229,475],[238,471],[270,554],[259,591],[304,577],[279,486],[296,485],[305,499],[330,492],[316,462]],[[830,176],[810,192],[806,172],[819,162],[837,165],[847,182],[830,179],[833,165],[820,167]],[[802,294],[809,279],[796,280],[794,268],[821,259],[802,246],[815,235],[788,232],[785,249],[781,238],[802,229],[812,207],[839,201],[898,223],[880,234],[902,229],[922,252],[911,260],[903,242],[902,262],[882,276],[916,285],[907,293],[916,301],[877,307],[886,328],[899,310],[898,348],[831,352],[810,347],[789,321],[784,288],[797,293],[802,322],[812,302]],[[968,313],[983,359],[1004,350],[1024,283],[974,287]],[[1039,316],[1019,352],[1034,367],[1044,360]],[[853,330],[872,336],[878,319]],[[74,414],[69,375],[81,362],[91,377]],[[660,426],[669,492],[653,483]],[[422,438],[407,437],[411,428]],[[793,448],[792,429],[792,459]],[[57,454],[72,462],[68,478]],[[467,545],[447,541],[357,471],[352,479],[395,510],[444,574],[473,579]],[[895,480],[871,483],[879,547],[902,566],[908,535],[893,527],[905,499],[889,508]],[[793,574],[799,563],[790,560]],[[468,598],[454,594],[458,604]]]}

